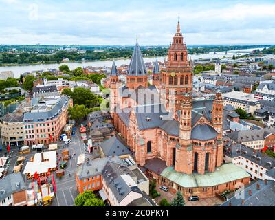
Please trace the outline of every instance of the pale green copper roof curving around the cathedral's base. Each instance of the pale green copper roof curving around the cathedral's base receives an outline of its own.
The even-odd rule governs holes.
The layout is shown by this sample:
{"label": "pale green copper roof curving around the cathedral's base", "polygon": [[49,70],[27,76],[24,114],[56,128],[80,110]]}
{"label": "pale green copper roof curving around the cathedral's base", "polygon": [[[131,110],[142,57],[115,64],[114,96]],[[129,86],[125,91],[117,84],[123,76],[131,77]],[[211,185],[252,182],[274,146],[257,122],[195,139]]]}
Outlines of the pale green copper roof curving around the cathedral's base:
{"label": "pale green copper roof curving around the cathedral's base", "polygon": [[204,175],[179,173],[174,170],[173,166],[169,166],[160,175],[185,188],[217,186],[229,181],[250,177],[245,170],[231,163],[223,164],[219,168],[216,168],[214,173],[206,173]]}

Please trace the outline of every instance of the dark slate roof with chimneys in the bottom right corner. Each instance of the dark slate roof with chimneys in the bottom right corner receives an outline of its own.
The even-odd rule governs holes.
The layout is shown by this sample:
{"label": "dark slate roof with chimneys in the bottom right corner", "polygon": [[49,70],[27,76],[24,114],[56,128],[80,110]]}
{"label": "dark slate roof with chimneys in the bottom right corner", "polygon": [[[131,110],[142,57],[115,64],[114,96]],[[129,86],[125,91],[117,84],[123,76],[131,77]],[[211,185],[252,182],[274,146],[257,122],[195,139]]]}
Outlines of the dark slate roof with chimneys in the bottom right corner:
{"label": "dark slate roof with chimneys in the bottom right corner", "polygon": [[[257,188],[259,184],[260,189]],[[233,195],[228,201],[222,203],[221,206],[275,206],[275,181],[267,181],[267,184],[261,179],[253,181],[252,184],[245,186],[244,197],[245,199],[239,199],[236,195]],[[249,195],[251,190],[252,195]],[[245,201],[243,204],[242,201]]]}

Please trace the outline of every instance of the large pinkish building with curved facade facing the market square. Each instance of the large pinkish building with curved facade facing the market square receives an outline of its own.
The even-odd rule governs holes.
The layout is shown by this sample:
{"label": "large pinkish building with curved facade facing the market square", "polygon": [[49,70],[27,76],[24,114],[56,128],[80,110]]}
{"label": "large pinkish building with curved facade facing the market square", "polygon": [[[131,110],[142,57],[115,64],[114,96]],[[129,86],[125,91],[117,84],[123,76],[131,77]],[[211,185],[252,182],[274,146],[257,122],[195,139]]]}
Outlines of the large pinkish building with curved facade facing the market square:
{"label": "large pinkish building with curved facade facing the market square", "polygon": [[69,120],[72,98],[39,98],[32,100],[32,109],[24,114],[25,144],[50,144],[58,140]]}

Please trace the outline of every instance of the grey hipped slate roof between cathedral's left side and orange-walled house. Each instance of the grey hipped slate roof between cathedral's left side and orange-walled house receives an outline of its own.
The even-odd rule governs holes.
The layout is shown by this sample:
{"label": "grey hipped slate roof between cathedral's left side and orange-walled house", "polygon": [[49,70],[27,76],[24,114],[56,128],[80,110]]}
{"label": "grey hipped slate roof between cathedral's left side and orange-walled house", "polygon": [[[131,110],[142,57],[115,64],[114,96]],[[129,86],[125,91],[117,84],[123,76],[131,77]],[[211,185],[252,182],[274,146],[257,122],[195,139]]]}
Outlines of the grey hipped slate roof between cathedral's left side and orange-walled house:
{"label": "grey hipped slate roof between cathedral's left side and orange-walled house", "polygon": [[100,147],[106,157],[111,155],[122,156],[131,154],[126,144],[117,136],[110,137],[108,140],[100,143]]}

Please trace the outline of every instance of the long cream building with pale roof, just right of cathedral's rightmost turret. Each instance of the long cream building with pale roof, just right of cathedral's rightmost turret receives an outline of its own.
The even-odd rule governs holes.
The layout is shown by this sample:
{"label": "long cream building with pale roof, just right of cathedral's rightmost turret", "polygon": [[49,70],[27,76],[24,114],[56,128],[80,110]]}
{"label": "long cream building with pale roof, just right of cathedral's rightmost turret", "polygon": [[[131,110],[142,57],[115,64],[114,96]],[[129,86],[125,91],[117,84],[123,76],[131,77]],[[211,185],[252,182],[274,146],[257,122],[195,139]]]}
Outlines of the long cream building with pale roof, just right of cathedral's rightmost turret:
{"label": "long cream building with pale roof, just right of cathedral's rightmost turret", "polygon": [[251,115],[261,108],[261,104],[252,94],[247,94],[243,91],[230,91],[223,94],[223,105],[231,104],[236,109],[243,109]]}

